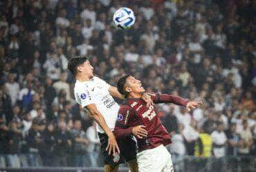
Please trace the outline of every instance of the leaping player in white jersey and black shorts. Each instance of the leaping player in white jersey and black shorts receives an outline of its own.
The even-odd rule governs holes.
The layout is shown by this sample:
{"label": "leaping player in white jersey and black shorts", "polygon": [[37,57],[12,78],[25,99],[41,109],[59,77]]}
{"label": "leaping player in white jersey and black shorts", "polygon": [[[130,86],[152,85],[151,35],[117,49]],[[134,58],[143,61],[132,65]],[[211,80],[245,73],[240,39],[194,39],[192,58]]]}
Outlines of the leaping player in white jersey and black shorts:
{"label": "leaping player in white jersey and black shorts", "polygon": [[[123,99],[116,87],[93,75],[93,67],[88,58],[79,56],[71,58],[68,69],[75,76],[75,100],[85,107],[97,122],[101,151],[104,158],[105,171],[118,171],[118,165],[128,162],[130,171],[138,171],[136,162],[136,142],[127,137],[126,140],[116,141],[112,131],[118,118],[119,105],[113,97]],[[150,96],[143,97],[148,104],[152,103]],[[133,129],[134,135],[140,136],[146,131],[138,126]],[[120,145],[120,149],[118,147]],[[113,154],[111,154],[113,151]],[[116,152],[117,151],[117,152]],[[117,153],[120,154],[118,157]]]}

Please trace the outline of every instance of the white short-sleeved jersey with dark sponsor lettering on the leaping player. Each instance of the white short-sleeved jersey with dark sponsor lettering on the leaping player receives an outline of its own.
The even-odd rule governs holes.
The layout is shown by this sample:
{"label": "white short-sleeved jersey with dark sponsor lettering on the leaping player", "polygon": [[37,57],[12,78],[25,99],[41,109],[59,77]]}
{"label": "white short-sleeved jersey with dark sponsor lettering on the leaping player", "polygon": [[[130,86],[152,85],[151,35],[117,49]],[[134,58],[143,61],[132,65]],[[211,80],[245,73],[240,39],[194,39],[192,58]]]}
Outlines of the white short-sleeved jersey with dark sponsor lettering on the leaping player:
{"label": "white short-sleeved jersey with dark sponsor lettering on the leaping player", "polygon": [[[94,76],[89,81],[80,82],[76,80],[74,87],[75,100],[83,108],[90,104],[95,104],[98,111],[104,117],[107,126],[111,131],[115,128],[118,117],[119,105],[109,94],[110,85],[104,80]],[[104,133],[97,124],[97,131]]]}

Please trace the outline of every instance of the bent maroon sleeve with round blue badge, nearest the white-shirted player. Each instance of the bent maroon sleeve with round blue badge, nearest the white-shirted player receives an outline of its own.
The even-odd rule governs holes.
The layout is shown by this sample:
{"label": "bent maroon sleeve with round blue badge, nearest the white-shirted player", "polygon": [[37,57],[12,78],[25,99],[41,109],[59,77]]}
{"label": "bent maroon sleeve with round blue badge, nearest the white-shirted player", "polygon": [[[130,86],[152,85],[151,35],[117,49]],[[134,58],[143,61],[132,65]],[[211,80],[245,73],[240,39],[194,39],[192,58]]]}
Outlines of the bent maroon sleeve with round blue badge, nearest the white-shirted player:
{"label": "bent maroon sleeve with round blue badge, nearest the white-shirted player", "polygon": [[132,134],[132,128],[129,125],[129,120],[134,115],[134,111],[131,109],[131,107],[128,106],[122,106],[120,107],[118,111],[118,118],[116,120],[116,126],[113,131],[116,138],[125,138],[126,136],[129,136]]}

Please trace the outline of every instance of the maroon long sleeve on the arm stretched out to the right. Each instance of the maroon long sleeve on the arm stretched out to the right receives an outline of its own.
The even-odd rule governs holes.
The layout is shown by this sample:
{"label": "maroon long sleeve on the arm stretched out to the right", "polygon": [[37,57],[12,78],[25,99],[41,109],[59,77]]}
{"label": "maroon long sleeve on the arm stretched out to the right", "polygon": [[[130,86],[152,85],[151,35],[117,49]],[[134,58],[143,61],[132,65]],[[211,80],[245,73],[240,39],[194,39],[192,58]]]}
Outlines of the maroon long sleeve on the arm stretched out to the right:
{"label": "maroon long sleeve on the arm stretched out to the right", "polygon": [[186,106],[188,100],[180,96],[172,96],[170,94],[149,93],[154,103],[174,103],[175,105]]}

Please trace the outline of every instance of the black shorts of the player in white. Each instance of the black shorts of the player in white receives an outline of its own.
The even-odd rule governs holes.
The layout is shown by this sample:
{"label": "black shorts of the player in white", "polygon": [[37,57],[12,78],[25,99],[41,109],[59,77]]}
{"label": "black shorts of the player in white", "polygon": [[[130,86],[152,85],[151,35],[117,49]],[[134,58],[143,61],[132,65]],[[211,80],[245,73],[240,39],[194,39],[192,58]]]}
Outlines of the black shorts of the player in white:
{"label": "black shorts of the player in white", "polygon": [[109,137],[105,133],[98,133],[98,136],[100,138],[100,151],[102,153],[104,164],[118,165],[124,164],[129,160],[136,159],[138,149],[133,136],[128,136],[127,138],[117,140],[118,147],[120,149],[120,160],[118,162],[113,161],[113,153],[109,155],[109,151],[106,151]]}

